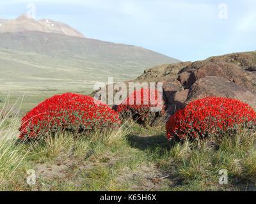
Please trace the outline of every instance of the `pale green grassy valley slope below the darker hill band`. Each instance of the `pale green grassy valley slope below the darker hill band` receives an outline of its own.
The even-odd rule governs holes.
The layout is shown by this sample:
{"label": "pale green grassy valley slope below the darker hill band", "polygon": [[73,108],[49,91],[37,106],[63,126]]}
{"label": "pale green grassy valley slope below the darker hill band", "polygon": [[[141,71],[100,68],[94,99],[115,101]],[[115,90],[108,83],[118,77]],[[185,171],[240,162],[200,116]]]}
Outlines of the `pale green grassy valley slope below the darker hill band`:
{"label": "pale green grassy valley slope below the darker hill band", "polygon": [[21,108],[24,113],[54,94],[89,94],[95,82],[107,83],[108,77],[114,77],[115,82],[131,80],[143,69],[143,65],[129,61],[95,62],[81,57],[0,49],[0,108],[8,94],[10,105],[24,96]]}

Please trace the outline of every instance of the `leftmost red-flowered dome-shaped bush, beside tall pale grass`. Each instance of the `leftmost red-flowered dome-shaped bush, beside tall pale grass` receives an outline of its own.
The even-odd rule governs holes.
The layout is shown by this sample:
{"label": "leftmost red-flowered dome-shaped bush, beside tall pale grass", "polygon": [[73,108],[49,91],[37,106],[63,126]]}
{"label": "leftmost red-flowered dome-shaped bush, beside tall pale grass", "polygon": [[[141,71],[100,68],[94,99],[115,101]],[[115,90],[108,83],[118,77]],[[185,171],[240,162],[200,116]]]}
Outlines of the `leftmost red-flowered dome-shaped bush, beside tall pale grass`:
{"label": "leftmost red-flowered dome-shaped bush, beside tall pale grass", "polygon": [[106,104],[97,104],[92,97],[82,94],[66,93],[46,99],[22,118],[20,138],[60,131],[90,133],[118,127],[118,113]]}

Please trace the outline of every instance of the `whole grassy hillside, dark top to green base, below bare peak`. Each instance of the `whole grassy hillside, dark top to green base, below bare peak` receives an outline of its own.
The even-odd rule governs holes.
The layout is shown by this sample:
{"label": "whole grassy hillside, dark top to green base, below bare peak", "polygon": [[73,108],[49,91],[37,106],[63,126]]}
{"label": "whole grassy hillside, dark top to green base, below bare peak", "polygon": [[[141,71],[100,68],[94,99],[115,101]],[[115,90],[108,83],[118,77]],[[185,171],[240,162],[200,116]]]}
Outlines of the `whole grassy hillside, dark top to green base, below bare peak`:
{"label": "whole grassy hillside, dark top to green base, below bare peak", "polygon": [[[132,80],[145,68],[175,62],[131,45],[40,32],[1,33],[0,101],[25,95],[22,112],[53,94],[93,91],[95,82]],[[0,103],[0,108],[3,103]]]}

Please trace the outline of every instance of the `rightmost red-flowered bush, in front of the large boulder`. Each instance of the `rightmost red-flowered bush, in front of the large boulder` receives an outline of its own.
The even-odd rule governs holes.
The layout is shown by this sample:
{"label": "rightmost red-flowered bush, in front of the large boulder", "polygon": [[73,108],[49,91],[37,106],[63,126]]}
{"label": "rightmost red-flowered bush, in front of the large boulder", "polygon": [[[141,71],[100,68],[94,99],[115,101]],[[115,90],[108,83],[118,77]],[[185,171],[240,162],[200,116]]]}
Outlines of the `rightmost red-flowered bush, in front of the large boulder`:
{"label": "rightmost red-flowered bush, in front of the large boulder", "polygon": [[166,124],[169,139],[205,138],[239,129],[255,128],[253,108],[237,99],[204,98],[189,103],[177,111]]}

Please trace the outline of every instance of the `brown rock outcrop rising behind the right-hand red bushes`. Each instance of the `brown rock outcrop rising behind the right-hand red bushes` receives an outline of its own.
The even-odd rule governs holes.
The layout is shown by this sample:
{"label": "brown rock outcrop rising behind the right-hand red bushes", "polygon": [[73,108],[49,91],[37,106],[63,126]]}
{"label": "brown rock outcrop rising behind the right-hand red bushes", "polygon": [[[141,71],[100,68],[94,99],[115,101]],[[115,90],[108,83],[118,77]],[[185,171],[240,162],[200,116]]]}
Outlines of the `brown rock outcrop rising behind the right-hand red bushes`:
{"label": "brown rock outcrop rising behind the right-hand red bushes", "polygon": [[170,115],[207,96],[236,98],[256,110],[256,52],[164,64],[145,70],[134,81],[163,82],[166,112]]}

